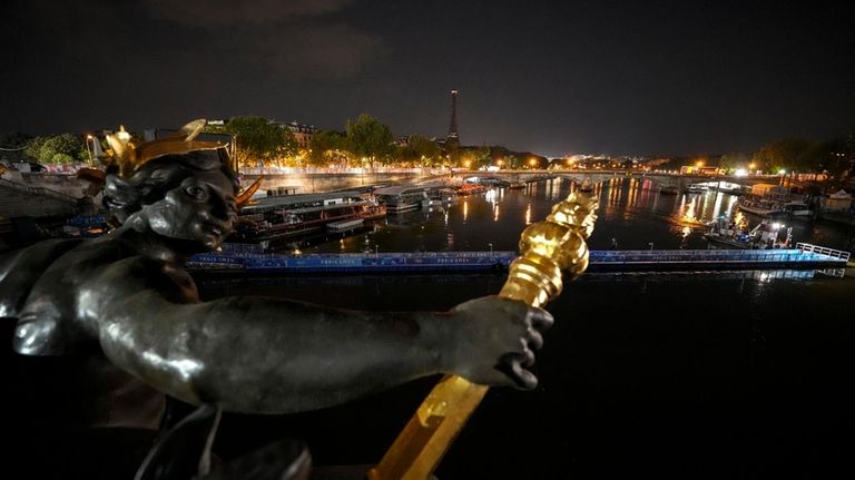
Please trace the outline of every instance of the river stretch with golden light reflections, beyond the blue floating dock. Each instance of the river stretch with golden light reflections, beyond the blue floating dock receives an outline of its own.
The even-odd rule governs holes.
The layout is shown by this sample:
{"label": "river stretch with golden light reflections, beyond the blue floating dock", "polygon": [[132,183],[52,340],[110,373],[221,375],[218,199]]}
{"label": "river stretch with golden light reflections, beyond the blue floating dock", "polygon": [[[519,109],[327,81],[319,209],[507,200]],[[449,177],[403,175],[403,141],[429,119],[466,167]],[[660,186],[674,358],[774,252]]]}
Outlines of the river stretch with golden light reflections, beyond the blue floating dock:
{"label": "river stretch with golden light reflections, beyond the blue floating dock", "polygon": [[[567,197],[570,180],[529,184],[525,189],[494,188],[481,195],[466,196],[441,210],[416,210],[390,215],[376,223],[373,231],[362,235],[370,238],[371,249],[381,252],[428,251],[515,251],[520,233],[530,224],[549,215],[553,204]],[[736,208],[737,196],[715,189],[700,194],[662,195],[649,179],[616,176],[596,184],[593,194],[600,198],[599,219],[589,239],[592,249],[611,248],[616,238],[621,249],[706,248],[702,237],[707,224],[721,216],[735,222],[749,222]],[[815,243],[831,248],[846,248],[852,227],[812,223],[808,219],[788,222],[795,242]],[[453,245],[449,237],[453,236]],[[363,242],[344,241],[317,245],[303,252],[362,252]]]}

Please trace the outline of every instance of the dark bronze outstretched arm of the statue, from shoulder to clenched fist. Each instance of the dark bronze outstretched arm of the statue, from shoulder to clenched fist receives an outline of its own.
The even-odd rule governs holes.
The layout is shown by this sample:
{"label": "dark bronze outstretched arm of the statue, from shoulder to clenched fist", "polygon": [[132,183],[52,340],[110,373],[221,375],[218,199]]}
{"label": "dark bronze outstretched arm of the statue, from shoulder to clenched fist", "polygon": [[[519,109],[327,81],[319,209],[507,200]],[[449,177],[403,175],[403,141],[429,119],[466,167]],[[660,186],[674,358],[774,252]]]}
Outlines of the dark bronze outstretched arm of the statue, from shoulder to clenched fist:
{"label": "dark bronze outstretched arm of the statue, from shoulder to clenched fist", "polygon": [[434,373],[532,388],[527,368],[551,323],[546,311],[495,297],[448,313],[351,312],[249,296],[181,303],[178,284],[165,291],[163,278],[110,276],[100,282],[114,294],[121,282],[119,290],[132,294],[95,308],[106,354],[176,398],[239,412],[313,410]]}

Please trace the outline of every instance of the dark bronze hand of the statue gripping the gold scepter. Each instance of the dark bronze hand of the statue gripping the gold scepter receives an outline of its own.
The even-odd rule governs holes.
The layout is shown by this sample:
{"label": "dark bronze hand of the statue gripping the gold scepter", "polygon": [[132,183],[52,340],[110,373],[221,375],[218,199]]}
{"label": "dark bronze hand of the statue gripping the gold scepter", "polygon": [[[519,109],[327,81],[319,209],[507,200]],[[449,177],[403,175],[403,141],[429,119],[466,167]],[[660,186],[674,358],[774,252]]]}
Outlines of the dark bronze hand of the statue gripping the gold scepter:
{"label": "dark bronze hand of the statue gripping the gold scepter", "polygon": [[552,315],[522,302],[485,296],[461,303],[451,312],[451,372],[471,382],[532,390],[538,378],[529,370],[534,350],[543,345],[542,332]]}

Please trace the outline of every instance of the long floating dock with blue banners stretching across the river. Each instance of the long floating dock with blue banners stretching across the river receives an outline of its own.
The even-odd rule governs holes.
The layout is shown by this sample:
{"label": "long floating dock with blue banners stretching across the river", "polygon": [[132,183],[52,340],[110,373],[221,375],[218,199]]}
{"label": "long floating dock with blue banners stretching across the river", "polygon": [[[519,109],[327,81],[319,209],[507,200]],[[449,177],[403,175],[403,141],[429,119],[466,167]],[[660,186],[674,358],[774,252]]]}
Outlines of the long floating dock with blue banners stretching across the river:
{"label": "long floating dock with blue banners stretching across the river", "polygon": [[[774,249],[591,251],[589,272],[845,268],[849,252],[809,244]],[[194,255],[193,272],[243,274],[507,272],[517,252],[276,254],[232,246]]]}

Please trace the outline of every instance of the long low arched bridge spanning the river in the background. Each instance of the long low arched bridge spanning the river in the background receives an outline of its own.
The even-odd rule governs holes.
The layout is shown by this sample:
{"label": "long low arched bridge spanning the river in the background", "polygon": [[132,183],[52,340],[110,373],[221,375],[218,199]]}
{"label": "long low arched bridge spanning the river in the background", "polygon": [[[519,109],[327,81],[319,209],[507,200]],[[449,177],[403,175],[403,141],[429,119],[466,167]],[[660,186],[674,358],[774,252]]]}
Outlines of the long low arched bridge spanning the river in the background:
{"label": "long low arched bridge spanning the river in the background", "polygon": [[744,186],[756,184],[777,184],[780,179],[778,175],[682,175],[669,174],[664,172],[637,172],[637,170],[588,170],[588,169],[554,169],[554,170],[455,170],[455,176],[466,177],[488,177],[498,178],[510,183],[531,183],[548,178],[567,178],[579,185],[596,185],[609,182],[613,178],[637,178],[648,179],[660,188],[676,188],[682,190],[692,184],[705,184],[716,182],[728,182]]}

